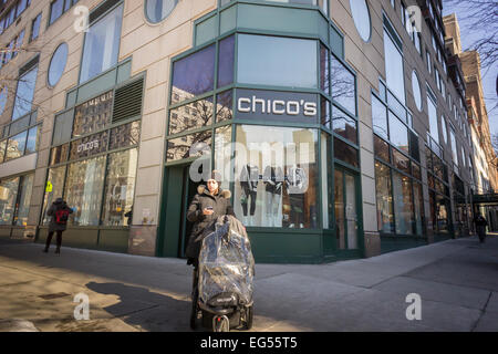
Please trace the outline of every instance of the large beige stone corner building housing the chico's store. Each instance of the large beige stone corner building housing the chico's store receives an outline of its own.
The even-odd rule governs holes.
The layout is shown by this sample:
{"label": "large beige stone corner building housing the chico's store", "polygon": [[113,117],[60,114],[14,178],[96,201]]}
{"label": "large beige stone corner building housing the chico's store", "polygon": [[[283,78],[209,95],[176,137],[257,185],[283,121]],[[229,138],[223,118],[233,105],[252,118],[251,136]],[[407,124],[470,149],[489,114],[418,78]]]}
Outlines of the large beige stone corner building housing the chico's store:
{"label": "large beige stone corner building housing the chico's store", "polygon": [[44,242],[63,196],[65,246],[184,257],[212,168],[259,262],[470,232],[440,1],[29,2],[0,17],[0,73],[18,79],[0,96],[1,237]]}

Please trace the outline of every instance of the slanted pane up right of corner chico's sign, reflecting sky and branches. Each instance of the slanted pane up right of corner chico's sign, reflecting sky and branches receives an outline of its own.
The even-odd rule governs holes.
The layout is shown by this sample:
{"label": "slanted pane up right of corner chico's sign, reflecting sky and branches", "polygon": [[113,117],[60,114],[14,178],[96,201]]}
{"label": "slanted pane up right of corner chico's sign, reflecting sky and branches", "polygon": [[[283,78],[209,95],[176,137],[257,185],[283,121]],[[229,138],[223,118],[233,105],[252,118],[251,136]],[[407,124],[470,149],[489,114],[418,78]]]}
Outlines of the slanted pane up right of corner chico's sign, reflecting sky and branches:
{"label": "slanted pane up right of corner chico's sign, reflecting sky and branches", "polygon": [[334,55],[331,56],[332,98],[351,114],[356,115],[356,90],[354,74]]}

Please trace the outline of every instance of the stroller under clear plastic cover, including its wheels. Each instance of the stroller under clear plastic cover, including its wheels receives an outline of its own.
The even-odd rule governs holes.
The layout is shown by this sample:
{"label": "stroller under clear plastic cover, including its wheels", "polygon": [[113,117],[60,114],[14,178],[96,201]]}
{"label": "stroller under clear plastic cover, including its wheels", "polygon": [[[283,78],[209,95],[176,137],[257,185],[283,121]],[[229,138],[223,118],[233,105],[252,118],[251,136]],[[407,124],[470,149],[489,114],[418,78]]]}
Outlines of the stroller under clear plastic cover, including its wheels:
{"label": "stroller under clear plastic cover, including its wheels", "polygon": [[242,223],[232,216],[217,218],[199,240],[194,270],[190,327],[214,332],[252,327],[255,259]]}

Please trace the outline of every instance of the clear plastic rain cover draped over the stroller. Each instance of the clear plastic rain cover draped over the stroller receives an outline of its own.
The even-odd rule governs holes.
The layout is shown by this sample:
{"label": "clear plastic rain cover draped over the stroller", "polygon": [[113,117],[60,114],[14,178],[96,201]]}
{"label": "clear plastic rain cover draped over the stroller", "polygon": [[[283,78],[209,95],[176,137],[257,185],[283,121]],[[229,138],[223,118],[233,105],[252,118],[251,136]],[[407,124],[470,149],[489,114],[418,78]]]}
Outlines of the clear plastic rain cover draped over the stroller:
{"label": "clear plastic rain cover draped over the stroller", "polygon": [[199,253],[199,301],[211,308],[252,304],[255,259],[242,223],[232,216],[216,219]]}

